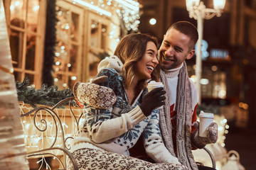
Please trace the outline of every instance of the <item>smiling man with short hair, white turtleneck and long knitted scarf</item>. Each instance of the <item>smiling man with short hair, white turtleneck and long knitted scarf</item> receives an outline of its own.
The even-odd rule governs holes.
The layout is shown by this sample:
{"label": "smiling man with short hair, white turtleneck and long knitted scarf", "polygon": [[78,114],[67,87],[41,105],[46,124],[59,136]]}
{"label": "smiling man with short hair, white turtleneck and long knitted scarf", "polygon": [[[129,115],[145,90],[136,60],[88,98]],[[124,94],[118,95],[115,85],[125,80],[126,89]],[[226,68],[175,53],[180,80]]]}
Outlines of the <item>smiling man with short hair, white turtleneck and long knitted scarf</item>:
{"label": "smiling man with short hair, white turtleneck and long knitted scarf", "polygon": [[196,27],[180,21],[167,30],[159,48],[161,81],[167,92],[164,112],[160,112],[162,137],[169,152],[176,154],[181,164],[190,169],[198,169],[193,160],[191,145],[203,148],[209,143],[215,143],[218,138],[217,123],[209,126],[208,137],[199,137],[196,130],[198,94],[195,84],[188,78],[185,60],[195,54],[197,40]]}

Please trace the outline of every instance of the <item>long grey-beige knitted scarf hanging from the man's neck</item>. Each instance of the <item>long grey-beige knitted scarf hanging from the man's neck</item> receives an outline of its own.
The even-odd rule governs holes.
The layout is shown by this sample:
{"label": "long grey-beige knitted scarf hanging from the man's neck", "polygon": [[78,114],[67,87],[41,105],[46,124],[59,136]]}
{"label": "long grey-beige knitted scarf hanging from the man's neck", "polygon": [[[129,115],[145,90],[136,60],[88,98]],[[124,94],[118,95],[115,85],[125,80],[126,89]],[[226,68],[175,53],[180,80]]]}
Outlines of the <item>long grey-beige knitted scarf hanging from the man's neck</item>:
{"label": "long grey-beige knitted scarf hanging from the man's neck", "polygon": [[170,103],[169,103],[169,86],[164,71],[161,70],[161,81],[166,90],[166,101],[164,109],[160,109],[160,127],[164,144],[169,152],[178,157],[178,161],[188,169],[197,170],[196,162],[193,159],[191,152],[191,111],[192,111],[192,91],[191,82],[188,78],[186,69],[186,62],[183,62],[178,73],[178,86],[176,96],[176,110],[177,110],[177,133],[176,133],[176,147],[177,155],[174,153],[174,143],[171,133],[171,117],[170,117]]}

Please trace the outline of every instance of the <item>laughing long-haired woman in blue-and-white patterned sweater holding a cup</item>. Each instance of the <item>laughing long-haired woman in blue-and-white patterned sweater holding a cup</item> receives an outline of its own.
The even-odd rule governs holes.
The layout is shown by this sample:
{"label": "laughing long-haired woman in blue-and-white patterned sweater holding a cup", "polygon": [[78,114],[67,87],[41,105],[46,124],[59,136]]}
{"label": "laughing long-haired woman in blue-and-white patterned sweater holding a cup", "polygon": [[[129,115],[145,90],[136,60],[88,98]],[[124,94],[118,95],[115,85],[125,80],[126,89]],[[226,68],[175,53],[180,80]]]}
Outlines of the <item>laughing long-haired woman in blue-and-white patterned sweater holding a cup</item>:
{"label": "laughing long-haired woman in blue-and-white patterned sweater holding a cup", "polygon": [[[112,89],[117,101],[107,109],[84,106],[85,123],[71,149],[80,169],[186,169],[161,140],[157,108],[166,92],[146,89],[150,79],[159,81],[156,45],[149,35],[129,34],[100,62],[97,77],[107,76],[100,85]],[[159,163],[129,157],[140,135],[147,154]]]}

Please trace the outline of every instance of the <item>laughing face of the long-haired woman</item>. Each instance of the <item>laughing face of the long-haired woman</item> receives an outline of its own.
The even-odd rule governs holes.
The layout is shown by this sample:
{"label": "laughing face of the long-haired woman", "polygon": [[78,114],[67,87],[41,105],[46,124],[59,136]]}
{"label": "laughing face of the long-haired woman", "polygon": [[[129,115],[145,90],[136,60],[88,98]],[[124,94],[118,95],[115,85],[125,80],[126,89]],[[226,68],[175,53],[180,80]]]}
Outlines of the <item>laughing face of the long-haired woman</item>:
{"label": "laughing face of the long-haired woman", "polygon": [[146,44],[146,52],[142,57],[142,60],[139,60],[139,62],[136,63],[135,76],[138,77],[139,80],[150,79],[151,73],[158,63],[156,45],[154,42],[149,41]]}

